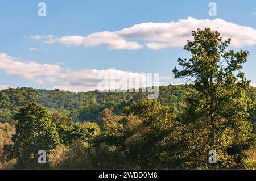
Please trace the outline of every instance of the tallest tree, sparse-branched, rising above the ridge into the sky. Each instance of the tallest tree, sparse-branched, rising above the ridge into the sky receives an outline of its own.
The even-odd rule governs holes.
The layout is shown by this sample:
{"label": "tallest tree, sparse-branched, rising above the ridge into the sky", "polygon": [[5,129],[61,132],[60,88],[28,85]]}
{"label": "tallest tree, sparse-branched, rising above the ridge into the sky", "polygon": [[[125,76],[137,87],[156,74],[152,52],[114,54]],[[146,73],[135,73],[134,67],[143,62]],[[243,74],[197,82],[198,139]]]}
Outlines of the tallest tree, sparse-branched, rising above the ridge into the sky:
{"label": "tallest tree, sparse-branched, rising above the ridge into the sky", "polygon": [[224,133],[236,129],[239,121],[247,120],[254,107],[246,96],[250,81],[241,71],[249,52],[226,50],[231,39],[223,41],[218,31],[209,28],[193,31],[192,36],[193,40],[188,40],[184,47],[192,57],[179,58],[183,70],[175,67],[172,71],[175,78],[192,81],[196,89],[195,94],[188,96],[184,119],[203,120],[209,128],[209,145],[216,148]]}

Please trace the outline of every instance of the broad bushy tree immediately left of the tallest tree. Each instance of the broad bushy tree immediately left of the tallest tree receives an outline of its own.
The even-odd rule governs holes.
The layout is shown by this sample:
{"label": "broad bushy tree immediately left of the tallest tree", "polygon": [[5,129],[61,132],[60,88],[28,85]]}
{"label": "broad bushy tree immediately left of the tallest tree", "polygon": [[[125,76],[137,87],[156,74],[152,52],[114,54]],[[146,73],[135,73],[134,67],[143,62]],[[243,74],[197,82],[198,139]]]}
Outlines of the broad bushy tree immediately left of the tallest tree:
{"label": "broad bushy tree immediately left of the tallest tree", "polygon": [[[170,107],[158,100],[142,99],[126,108],[125,125],[133,125],[126,138],[127,162],[139,169],[177,169],[185,148],[182,127]],[[130,116],[135,116],[131,119]],[[129,119],[130,118],[130,119]],[[134,164],[135,163],[135,164]]]}

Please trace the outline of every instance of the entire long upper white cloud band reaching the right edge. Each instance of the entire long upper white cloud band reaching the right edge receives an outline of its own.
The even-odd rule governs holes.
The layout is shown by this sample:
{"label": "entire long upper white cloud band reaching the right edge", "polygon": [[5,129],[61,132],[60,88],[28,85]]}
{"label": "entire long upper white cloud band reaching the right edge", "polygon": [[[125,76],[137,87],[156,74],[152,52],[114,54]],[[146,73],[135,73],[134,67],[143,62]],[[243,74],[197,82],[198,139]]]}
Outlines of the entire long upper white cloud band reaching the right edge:
{"label": "entire long upper white cloud band reaching the right edge", "polygon": [[120,31],[97,32],[88,36],[63,36],[56,37],[32,36],[32,39],[44,39],[44,43],[60,43],[65,45],[97,46],[106,45],[109,49],[141,49],[143,46],[137,41],[146,41],[150,49],[163,49],[168,47],[183,47],[191,33],[197,28],[211,28],[218,30],[224,39],[232,38],[233,47],[256,45],[256,30],[251,27],[241,26],[222,19],[195,19],[188,17],[177,22],[169,23],[141,23]]}

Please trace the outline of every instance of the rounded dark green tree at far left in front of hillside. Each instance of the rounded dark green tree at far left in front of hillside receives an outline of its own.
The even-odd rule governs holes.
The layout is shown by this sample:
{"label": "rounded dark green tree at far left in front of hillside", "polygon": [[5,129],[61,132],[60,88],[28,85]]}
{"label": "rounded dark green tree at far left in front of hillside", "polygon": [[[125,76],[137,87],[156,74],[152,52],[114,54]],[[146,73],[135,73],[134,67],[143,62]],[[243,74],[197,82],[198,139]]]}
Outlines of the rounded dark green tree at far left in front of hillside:
{"label": "rounded dark green tree at far left in front of hillside", "polygon": [[29,104],[20,109],[15,115],[16,134],[13,135],[12,145],[5,146],[9,159],[18,159],[15,169],[40,169],[47,164],[38,163],[38,151],[49,150],[60,144],[56,124],[52,116],[43,106],[37,103]]}

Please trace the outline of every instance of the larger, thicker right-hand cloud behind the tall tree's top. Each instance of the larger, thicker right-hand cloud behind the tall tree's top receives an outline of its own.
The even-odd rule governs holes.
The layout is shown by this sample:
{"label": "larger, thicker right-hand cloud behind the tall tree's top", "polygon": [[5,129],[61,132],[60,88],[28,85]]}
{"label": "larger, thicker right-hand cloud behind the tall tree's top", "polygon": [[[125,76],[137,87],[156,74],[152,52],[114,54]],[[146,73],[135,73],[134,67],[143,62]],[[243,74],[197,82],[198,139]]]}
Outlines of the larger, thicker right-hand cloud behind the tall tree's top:
{"label": "larger, thicker right-hand cloud behind the tall tree's top", "polygon": [[218,30],[224,39],[232,38],[233,47],[256,44],[256,30],[254,28],[240,26],[222,19],[198,20],[189,17],[187,19],[180,19],[178,22],[142,23],[125,28],[119,31],[118,34],[126,39],[150,41],[147,44],[148,48],[161,49],[183,47],[187,40],[191,39],[191,32],[197,30],[197,28]]}

